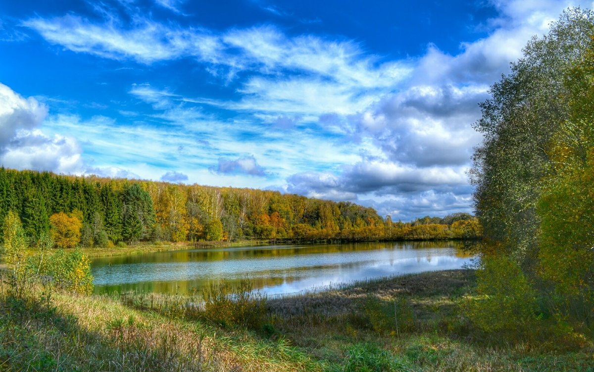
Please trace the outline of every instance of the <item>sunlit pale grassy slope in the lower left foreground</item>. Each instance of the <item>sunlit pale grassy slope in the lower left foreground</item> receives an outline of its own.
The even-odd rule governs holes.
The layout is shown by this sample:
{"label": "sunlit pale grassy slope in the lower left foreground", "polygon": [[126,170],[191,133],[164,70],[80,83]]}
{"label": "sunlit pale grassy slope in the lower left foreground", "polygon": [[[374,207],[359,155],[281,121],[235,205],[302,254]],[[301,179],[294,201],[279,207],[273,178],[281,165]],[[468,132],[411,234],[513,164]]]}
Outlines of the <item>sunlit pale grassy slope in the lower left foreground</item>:
{"label": "sunlit pale grassy slope in the lower left foreground", "polygon": [[138,311],[106,297],[0,301],[0,370],[321,371],[284,339]]}

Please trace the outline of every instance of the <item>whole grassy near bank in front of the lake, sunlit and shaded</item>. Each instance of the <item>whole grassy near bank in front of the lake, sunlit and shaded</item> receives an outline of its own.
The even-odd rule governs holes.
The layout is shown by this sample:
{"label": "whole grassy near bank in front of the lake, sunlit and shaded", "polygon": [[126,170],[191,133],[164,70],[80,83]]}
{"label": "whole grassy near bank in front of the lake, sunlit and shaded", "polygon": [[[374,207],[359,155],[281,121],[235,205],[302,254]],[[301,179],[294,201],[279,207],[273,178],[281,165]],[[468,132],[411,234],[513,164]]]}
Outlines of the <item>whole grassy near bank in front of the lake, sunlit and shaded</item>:
{"label": "whole grassy near bank in front of the lake, sunlit and shaded", "polygon": [[475,281],[448,270],[270,298],[251,330],[179,296],[38,294],[33,311],[3,296],[0,370],[592,371],[592,341],[474,330],[462,309]]}

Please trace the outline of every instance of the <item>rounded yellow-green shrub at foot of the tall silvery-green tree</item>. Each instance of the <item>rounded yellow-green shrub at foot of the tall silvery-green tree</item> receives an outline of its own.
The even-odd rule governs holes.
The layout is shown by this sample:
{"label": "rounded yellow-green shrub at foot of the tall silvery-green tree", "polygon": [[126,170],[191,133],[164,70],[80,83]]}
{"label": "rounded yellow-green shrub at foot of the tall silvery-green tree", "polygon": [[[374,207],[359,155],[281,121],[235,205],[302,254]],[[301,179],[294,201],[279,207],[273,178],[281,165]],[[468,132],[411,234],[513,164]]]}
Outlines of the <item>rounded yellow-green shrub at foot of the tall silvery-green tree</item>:
{"label": "rounded yellow-green shrub at foot of the tall silvery-green tree", "polygon": [[478,297],[468,298],[466,314],[489,333],[524,336],[536,321],[536,292],[511,258],[482,257],[477,275]]}

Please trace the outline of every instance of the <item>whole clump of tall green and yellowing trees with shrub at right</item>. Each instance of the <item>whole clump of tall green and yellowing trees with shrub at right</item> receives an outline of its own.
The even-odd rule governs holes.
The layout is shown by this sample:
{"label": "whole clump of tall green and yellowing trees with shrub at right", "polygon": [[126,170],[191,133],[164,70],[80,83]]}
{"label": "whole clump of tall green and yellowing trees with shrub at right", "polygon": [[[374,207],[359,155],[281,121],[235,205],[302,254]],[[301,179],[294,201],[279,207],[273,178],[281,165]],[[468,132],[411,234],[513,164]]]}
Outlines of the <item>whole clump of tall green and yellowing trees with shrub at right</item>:
{"label": "whole clump of tall green and yellowing trees with shrub at right", "polygon": [[592,34],[593,12],[565,11],[481,105],[484,142],[471,176],[491,261],[477,311],[492,317],[492,330],[525,326],[535,295],[557,319],[592,330]]}

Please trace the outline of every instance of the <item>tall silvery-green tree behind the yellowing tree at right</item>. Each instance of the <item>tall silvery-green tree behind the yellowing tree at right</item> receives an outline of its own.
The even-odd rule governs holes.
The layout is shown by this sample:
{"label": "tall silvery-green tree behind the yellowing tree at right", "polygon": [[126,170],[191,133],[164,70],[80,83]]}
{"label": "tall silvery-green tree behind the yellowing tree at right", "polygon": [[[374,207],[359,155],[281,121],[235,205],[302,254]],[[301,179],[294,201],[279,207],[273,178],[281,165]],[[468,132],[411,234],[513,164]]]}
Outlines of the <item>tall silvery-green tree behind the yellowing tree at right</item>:
{"label": "tall silvery-green tree behind the yellowing tree at right", "polygon": [[501,242],[525,269],[538,257],[541,180],[549,171],[547,149],[568,116],[564,75],[583,58],[594,14],[568,10],[548,34],[532,39],[511,73],[491,86],[475,124],[484,141],[473,155],[476,214],[486,238]]}

